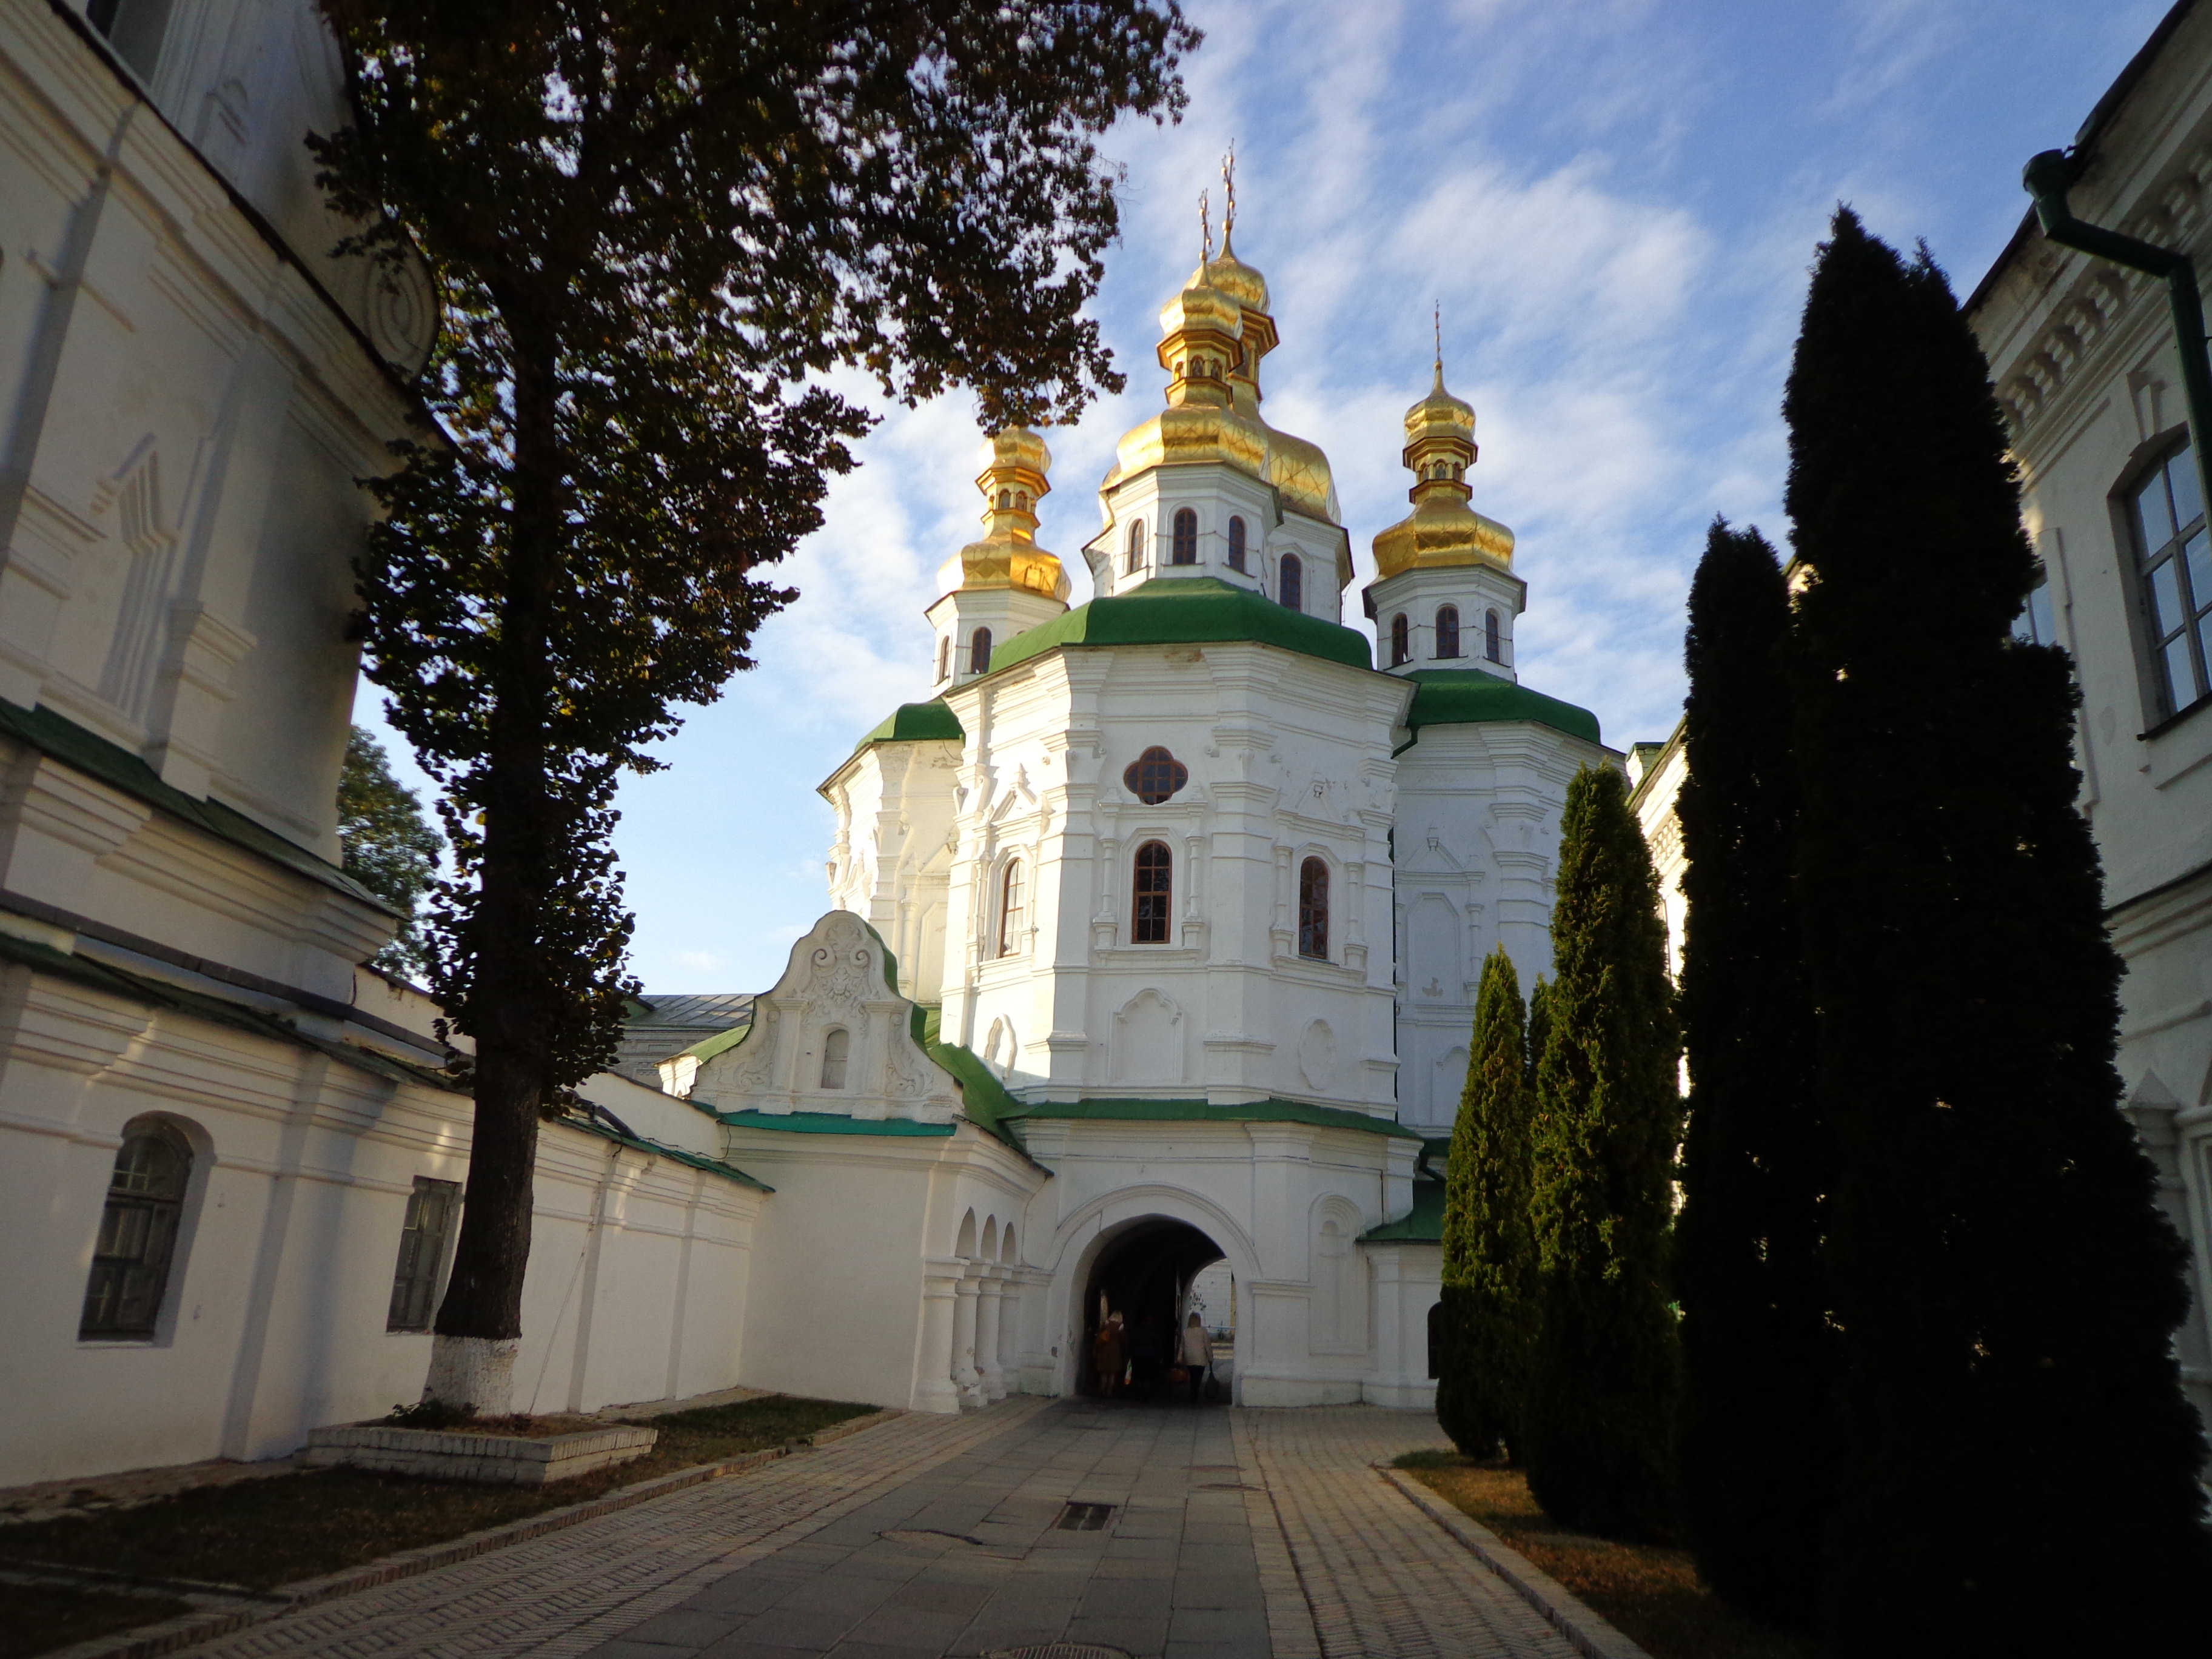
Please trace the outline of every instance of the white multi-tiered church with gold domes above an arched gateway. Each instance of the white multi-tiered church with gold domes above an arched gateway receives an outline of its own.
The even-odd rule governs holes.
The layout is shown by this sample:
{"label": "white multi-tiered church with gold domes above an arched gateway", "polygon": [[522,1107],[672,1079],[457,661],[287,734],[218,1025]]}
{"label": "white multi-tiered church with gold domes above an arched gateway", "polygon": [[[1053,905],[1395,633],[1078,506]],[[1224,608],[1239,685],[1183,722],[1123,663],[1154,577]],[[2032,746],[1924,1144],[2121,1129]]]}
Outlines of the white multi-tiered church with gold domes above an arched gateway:
{"label": "white multi-tiered church with gold domes above an arched gateway", "polygon": [[1261,416],[1274,347],[1228,248],[1168,301],[1073,611],[1044,442],[989,445],[933,697],[821,785],[834,907],[748,1026],[659,1064],[774,1188],[748,1378],[1071,1394],[1104,1312],[1175,1323],[1223,1261],[1241,1402],[1433,1398],[1480,962],[1548,971],[1566,785],[1617,757],[1515,681],[1513,533],[1440,367],[1360,593],[1376,668],[1329,462]]}

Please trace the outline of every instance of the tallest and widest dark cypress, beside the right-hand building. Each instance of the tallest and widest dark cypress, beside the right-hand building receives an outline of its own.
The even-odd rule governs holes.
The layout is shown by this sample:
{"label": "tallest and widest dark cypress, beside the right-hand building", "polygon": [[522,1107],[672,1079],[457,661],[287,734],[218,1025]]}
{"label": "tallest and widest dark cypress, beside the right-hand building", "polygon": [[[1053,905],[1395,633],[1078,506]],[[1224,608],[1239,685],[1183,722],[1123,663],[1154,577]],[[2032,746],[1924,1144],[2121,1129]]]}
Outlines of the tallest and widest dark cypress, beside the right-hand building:
{"label": "tallest and widest dark cypress, beside the right-hand building", "polygon": [[2119,1113],[2119,958],[2064,653],[1989,365],[1927,250],[1838,210],[1785,403],[1801,872],[1834,1126],[1843,1471],[1823,1606],[1858,1652],[2197,1652],[2183,1250]]}

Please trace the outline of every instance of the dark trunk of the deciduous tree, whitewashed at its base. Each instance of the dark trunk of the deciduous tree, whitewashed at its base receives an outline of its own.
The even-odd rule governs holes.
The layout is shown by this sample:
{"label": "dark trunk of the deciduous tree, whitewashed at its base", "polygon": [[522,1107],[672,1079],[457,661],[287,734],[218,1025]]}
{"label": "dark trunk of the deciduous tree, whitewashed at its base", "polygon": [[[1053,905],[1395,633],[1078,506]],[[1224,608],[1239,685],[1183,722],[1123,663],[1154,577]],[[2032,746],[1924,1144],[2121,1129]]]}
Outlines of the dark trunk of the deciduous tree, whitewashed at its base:
{"label": "dark trunk of the deciduous tree, whitewashed at its base", "polygon": [[500,595],[500,668],[482,774],[484,858],[465,949],[476,958],[467,1024],[476,1037],[476,1128],[453,1274],[438,1305],[425,1400],[498,1416],[511,1409],[531,1261],[538,1119],[549,1093],[555,982],[540,958],[553,872],[546,717],[549,635],[560,568],[560,385],[553,332],[507,307],[515,338],[515,462]]}

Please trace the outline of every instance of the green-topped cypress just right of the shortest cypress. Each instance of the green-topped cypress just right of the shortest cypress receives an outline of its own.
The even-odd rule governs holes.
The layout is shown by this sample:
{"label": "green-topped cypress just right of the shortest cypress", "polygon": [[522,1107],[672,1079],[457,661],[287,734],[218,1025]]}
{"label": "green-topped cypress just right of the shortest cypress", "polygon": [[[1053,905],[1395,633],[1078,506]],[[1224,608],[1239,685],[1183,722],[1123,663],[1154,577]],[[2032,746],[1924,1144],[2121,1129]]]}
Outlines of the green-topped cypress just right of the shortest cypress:
{"label": "green-topped cypress just right of the shortest cypress", "polygon": [[1659,880],[1610,768],[1584,768],[1566,790],[1551,949],[1528,1491],[1566,1526],[1641,1537],[1670,1524],[1663,1276],[1681,1097]]}

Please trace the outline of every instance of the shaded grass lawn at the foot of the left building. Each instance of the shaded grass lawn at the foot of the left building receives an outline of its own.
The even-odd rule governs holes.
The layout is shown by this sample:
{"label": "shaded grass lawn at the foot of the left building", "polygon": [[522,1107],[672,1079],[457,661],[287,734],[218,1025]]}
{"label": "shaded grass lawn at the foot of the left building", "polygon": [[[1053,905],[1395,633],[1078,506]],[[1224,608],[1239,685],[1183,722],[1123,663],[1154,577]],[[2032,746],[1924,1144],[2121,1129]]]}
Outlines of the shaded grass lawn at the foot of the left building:
{"label": "shaded grass lawn at the foot of the left building", "polygon": [[[272,1480],[199,1486],[137,1509],[0,1526],[0,1566],[60,1562],[272,1590],[396,1551],[442,1544],[484,1526],[580,1504],[677,1469],[781,1447],[874,1409],[770,1394],[739,1405],[639,1418],[661,1431],[650,1458],[551,1486],[478,1486],[369,1469],[310,1469]],[[153,1624],[181,1610],[133,1601],[108,1608],[108,1621],[100,1630],[71,1624],[100,1617],[93,1601],[111,1604],[117,1597],[0,1586],[0,1659],[46,1652],[100,1630]]]}

